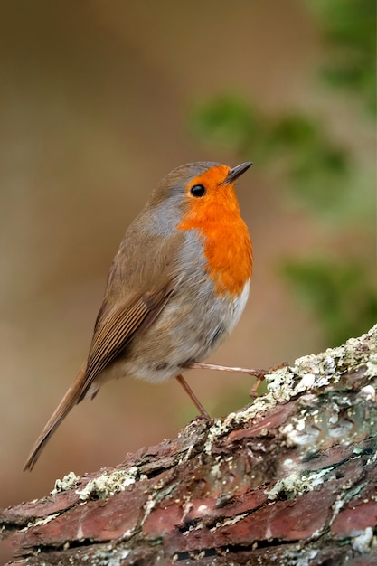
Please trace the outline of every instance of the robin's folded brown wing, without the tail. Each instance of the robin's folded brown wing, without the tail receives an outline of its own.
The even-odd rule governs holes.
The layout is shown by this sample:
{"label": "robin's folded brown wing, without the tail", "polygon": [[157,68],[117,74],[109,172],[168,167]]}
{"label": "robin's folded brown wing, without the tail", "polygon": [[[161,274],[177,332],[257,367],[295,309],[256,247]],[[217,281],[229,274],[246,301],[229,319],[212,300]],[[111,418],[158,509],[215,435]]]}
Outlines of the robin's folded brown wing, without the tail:
{"label": "robin's folded brown wing, without the tail", "polygon": [[[88,394],[99,373],[152,325],[165,307],[178,284],[175,257],[183,241],[182,233],[158,237],[141,227],[136,234],[128,231],[108,274],[77,402]],[[148,250],[147,255],[140,253],[142,247]]]}

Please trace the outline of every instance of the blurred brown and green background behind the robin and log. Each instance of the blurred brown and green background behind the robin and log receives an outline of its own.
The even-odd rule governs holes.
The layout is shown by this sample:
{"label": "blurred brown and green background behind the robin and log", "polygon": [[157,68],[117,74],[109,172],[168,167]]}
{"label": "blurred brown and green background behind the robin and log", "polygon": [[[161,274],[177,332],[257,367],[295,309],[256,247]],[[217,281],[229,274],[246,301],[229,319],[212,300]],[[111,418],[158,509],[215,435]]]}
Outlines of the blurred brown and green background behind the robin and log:
{"label": "blurred brown and green background behind the robin and log", "polygon": [[[0,506],[117,465],[195,416],[174,381],[110,382],[24,460],[85,359],[129,222],[177,165],[238,184],[250,300],[213,363],[269,367],[377,321],[370,0],[5,2],[0,8]],[[186,377],[214,416],[251,378]]]}

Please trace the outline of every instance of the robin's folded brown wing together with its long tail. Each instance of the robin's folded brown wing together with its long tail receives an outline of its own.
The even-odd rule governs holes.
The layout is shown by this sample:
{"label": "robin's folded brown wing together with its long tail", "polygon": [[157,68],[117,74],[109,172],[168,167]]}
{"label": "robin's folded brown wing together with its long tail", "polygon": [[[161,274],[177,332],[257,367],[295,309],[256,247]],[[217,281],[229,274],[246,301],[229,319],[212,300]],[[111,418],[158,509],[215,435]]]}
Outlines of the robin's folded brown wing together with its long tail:
{"label": "robin's folded brown wing together with its long tail", "polygon": [[[24,470],[33,469],[42,449],[72,407],[82,401],[99,373],[132,338],[153,323],[174,291],[177,285],[174,246],[182,242],[182,234],[170,240],[150,237],[145,242],[146,248],[151,250],[147,266],[146,257],[127,253],[132,246],[140,245],[140,240],[139,232],[133,234],[128,231],[127,238],[122,242],[108,274],[108,287],[97,316],[88,363],[83,364],[70,389],[42,429]],[[135,289],[138,290],[137,294]]]}

